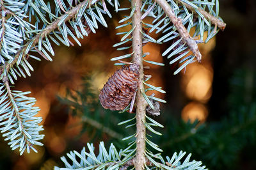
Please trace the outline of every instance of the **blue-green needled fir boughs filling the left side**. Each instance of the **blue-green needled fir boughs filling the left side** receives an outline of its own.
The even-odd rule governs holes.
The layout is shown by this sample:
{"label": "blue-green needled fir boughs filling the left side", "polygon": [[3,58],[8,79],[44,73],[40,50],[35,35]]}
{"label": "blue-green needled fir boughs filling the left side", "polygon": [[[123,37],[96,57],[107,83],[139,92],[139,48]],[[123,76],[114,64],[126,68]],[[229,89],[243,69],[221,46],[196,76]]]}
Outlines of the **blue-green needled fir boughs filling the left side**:
{"label": "blue-green needled fir boughs filling the left side", "polygon": [[[33,56],[31,52],[38,52],[44,59],[52,61],[54,50],[51,43],[60,45],[73,45],[68,38],[73,38],[78,45],[81,45],[77,38],[88,36],[84,28],[90,27],[93,33],[97,29],[97,22],[106,26],[102,13],[107,14],[95,4],[93,7],[90,1],[83,1],[77,6],[72,6],[72,1],[66,4],[63,1],[54,1],[54,12],[51,3],[44,1],[0,1],[1,2],[1,133],[6,140],[10,140],[11,148],[20,147],[20,155],[27,148],[35,150],[33,145],[42,145],[38,140],[44,135],[39,135],[43,130],[38,123],[42,118],[34,117],[39,111],[32,107],[35,98],[28,98],[25,95],[29,92],[14,91],[9,82],[18,77],[30,76],[33,67],[29,64],[29,58],[40,61],[40,58]],[[97,14],[96,14],[97,13]],[[92,20],[87,15],[92,16]],[[111,17],[111,15],[108,13]],[[93,17],[95,16],[95,17]],[[81,22],[84,17],[88,25]],[[72,20],[71,20],[72,19]],[[70,24],[75,30],[76,36],[67,26]],[[81,32],[78,31],[81,30]],[[56,30],[58,28],[58,31]],[[49,54],[50,53],[50,54]],[[33,120],[33,121],[31,121]],[[7,133],[6,133],[7,132]]]}

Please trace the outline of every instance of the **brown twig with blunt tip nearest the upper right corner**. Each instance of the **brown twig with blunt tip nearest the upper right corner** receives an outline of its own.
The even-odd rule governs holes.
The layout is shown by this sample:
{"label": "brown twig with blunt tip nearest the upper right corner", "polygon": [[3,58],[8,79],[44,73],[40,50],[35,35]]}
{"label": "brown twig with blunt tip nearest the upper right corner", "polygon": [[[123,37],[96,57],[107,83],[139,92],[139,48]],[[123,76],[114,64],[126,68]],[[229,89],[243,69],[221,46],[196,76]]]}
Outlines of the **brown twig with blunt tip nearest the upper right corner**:
{"label": "brown twig with blunt tip nearest the upper right corner", "polygon": [[[194,9],[192,6],[190,6],[189,4],[183,3],[183,2],[180,1],[180,0],[175,0],[175,1],[176,1],[177,3],[179,3],[179,4],[184,4],[184,6],[186,6],[186,8],[188,8],[190,11],[195,12],[195,9]],[[202,13],[202,15],[204,15],[204,17],[205,17],[206,19],[211,20],[211,23],[214,24],[215,26],[219,27],[219,28],[221,29],[221,31],[223,31],[223,30],[225,29],[225,27],[226,27],[226,25],[227,25],[225,22],[223,22],[222,20],[220,20],[220,19],[214,17],[214,16],[211,15],[210,13],[205,12],[205,10],[203,10],[202,8],[199,8],[199,7],[198,7],[197,10],[198,10],[200,13]],[[196,13],[196,12],[195,12],[195,13]]]}

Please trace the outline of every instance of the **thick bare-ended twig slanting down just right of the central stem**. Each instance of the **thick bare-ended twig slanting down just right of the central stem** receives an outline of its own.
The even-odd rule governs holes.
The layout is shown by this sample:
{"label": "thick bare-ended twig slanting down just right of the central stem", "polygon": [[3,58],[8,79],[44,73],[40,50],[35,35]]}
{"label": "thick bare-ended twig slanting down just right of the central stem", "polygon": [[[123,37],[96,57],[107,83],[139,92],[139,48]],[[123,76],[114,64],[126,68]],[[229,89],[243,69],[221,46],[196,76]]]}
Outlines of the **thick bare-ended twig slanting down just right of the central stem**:
{"label": "thick bare-ended twig slanting down just right of the central stem", "polygon": [[200,53],[200,51],[198,49],[197,43],[189,35],[188,30],[182,24],[182,19],[178,19],[176,17],[175,13],[173,12],[173,9],[167,3],[167,1],[165,1],[165,0],[156,0],[156,2],[157,2],[157,4],[159,4],[159,6],[161,6],[161,8],[166,13],[166,15],[168,15],[169,19],[172,21],[173,25],[179,31],[180,36],[182,37],[182,41],[189,46],[190,50],[195,54],[197,61],[200,62],[201,59],[202,59],[202,54]]}

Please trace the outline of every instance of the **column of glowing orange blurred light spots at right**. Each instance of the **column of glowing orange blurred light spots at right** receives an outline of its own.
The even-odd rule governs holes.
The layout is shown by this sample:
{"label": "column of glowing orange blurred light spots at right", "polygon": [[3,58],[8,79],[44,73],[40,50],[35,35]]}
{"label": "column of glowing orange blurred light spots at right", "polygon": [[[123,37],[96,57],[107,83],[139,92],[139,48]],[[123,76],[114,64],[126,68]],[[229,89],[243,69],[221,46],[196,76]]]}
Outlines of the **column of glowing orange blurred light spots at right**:
{"label": "column of glowing orange blurred light spots at right", "polygon": [[[207,33],[204,33],[204,40]],[[194,63],[188,66],[188,72],[182,77],[182,89],[186,96],[193,100],[182,110],[182,119],[185,121],[205,121],[208,116],[208,110],[204,104],[209,101],[212,95],[213,70],[211,66],[210,52],[214,48],[216,40],[212,38],[206,44],[198,45],[202,52],[204,65]]]}

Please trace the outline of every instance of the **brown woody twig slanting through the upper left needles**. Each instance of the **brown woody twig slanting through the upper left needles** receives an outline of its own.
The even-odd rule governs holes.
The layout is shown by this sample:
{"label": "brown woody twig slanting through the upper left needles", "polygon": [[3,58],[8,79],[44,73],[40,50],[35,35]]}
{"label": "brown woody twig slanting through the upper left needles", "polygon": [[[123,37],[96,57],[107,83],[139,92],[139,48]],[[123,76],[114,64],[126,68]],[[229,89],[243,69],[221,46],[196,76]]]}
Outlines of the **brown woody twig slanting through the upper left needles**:
{"label": "brown woody twig slanting through the upper left needles", "polygon": [[[89,1],[89,4],[92,3],[92,0],[88,0],[88,1]],[[31,49],[32,47],[34,47],[36,45],[36,43],[38,43],[38,41],[40,40],[40,37],[44,38],[46,35],[48,35],[52,31],[54,31],[54,29],[58,28],[59,22],[66,22],[66,21],[74,18],[76,16],[77,12],[79,11],[79,9],[83,8],[83,6],[86,5],[86,3],[88,1],[83,1],[79,4],[77,4],[77,6],[74,6],[74,8],[72,8],[71,10],[66,12],[64,15],[62,15],[58,19],[54,20],[54,22],[52,22],[49,26],[45,27],[42,31],[40,31],[40,33],[38,33],[31,41],[27,42],[19,50],[19,52],[17,52],[17,54],[15,55],[12,62],[6,63],[6,65],[4,65],[3,68],[1,68],[0,73],[2,73],[4,69],[6,69],[6,72],[8,72],[10,70],[10,68],[12,68],[12,66],[15,65],[15,63],[17,63],[20,53],[22,53],[22,58],[24,58],[24,56],[26,56],[26,50],[29,46],[29,43],[33,42],[32,45],[30,46],[30,49]],[[88,8],[89,6],[90,5],[88,5],[86,8]],[[68,16],[67,16],[67,14],[68,14]],[[63,21],[63,19],[64,19],[64,21]]]}

